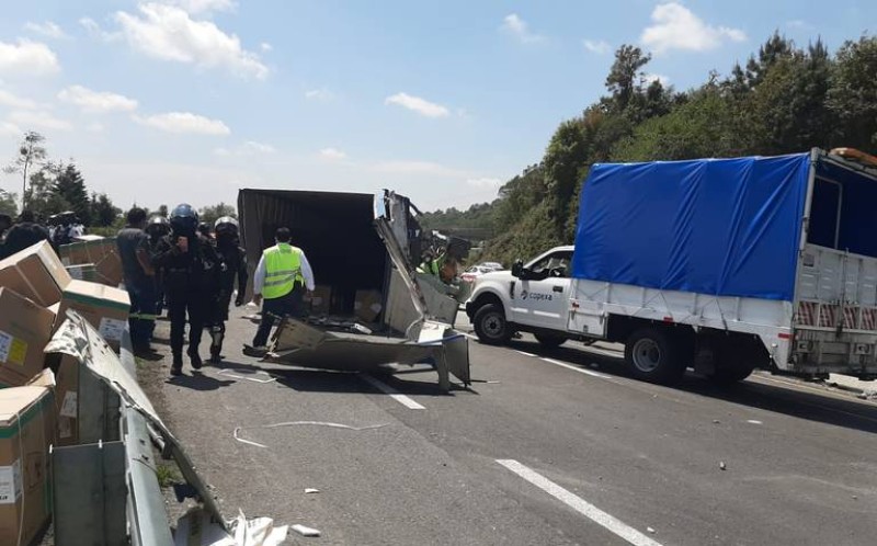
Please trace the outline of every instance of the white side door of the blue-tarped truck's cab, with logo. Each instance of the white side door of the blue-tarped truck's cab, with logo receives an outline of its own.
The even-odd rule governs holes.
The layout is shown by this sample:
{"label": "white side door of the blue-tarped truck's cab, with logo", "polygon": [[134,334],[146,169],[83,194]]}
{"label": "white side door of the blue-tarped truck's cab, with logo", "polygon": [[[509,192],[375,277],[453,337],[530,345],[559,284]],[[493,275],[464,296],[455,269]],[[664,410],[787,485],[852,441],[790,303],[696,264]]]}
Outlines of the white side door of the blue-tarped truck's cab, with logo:
{"label": "white side door of the blue-tarped truck's cab, with logo", "polygon": [[569,321],[571,251],[557,251],[527,268],[515,280],[512,316],[519,325],[566,330]]}

